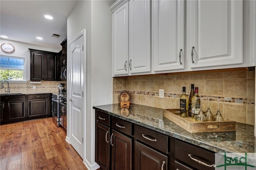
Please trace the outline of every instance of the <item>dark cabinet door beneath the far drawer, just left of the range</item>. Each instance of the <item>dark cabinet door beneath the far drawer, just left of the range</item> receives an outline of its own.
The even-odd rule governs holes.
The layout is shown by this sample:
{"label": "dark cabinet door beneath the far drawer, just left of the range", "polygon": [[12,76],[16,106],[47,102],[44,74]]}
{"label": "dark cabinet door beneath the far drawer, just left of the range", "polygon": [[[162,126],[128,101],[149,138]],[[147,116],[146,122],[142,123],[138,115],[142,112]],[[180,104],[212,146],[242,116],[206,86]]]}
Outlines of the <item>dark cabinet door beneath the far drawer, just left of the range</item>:
{"label": "dark cabinet door beneath the far drawer, just left of the range", "polygon": [[47,117],[48,99],[28,100],[28,118]]}

